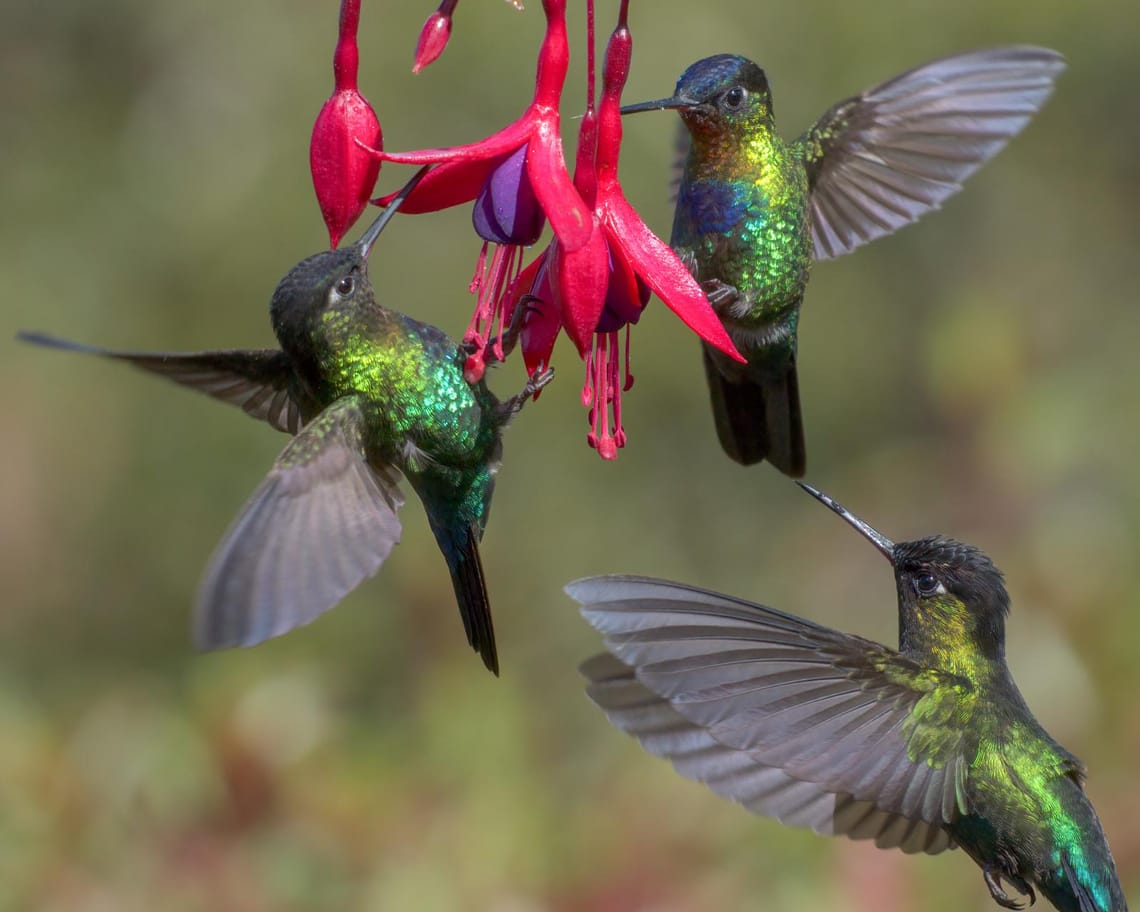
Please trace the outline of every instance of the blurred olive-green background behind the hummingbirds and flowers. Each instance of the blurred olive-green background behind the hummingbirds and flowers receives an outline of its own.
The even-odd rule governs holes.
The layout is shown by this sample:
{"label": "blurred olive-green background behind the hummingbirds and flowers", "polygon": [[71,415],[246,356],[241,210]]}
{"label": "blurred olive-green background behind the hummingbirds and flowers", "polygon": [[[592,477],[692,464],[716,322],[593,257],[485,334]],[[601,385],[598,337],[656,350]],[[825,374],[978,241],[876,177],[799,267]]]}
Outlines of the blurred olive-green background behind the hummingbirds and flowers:
{"label": "blurred olive-green background behind the hummingbirds and flowers", "polygon": [[[539,3],[469,0],[417,78],[430,2],[366,2],[361,87],[391,149],[459,142],[529,99]],[[0,8],[0,910],[990,910],[961,853],[754,819],[611,730],[561,593],[674,577],[894,642],[890,573],[837,518],[712,432],[695,341],[634,339],[629,446],[585,445],[581,367],[510,431],[483,555],[504,674],[463,641],[422,512],[378,577],[254,650],[188,642],[211,548],[284,438],[96,359],[14,343],[272,343],[278,277],[321,249],[308,174],[333,0]],[[581,8],[567,113],[583,99]],[[616,2],[600,0],[600,35]],[[1058,93],[944,209],[820,266],[800,331],[808,479],[896,539],[940,531],[1009,580],[1025,695],[1091,769],[1140,903],[1140,18],[1086,3],[633,5],[628,100],[735,51],[785,136],[938,56],[1033,42]],[[628,194],[667,234],[675,119],[627,125]],[[573,124],[567,124],[572,141]],[[381,186],[400,182],[385,166]],[[383,303],[457,336],[470,213],[401,219]],[[518,360],[491,378],[522,382]]]}

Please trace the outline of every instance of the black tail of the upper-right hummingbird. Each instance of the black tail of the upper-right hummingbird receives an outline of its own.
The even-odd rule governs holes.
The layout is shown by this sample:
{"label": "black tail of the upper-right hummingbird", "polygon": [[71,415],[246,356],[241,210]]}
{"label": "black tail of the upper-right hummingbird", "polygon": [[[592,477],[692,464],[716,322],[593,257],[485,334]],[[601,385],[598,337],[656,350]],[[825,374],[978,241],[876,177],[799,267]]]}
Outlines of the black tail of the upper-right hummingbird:
{"label": "black tail of the upper-right hummingbird", "polygon": [[795,357],[782,373],[728,380],[706,345],[705,375],[724,451],[741,465],[767,459],[785,475],[801,478],[807,457]]}

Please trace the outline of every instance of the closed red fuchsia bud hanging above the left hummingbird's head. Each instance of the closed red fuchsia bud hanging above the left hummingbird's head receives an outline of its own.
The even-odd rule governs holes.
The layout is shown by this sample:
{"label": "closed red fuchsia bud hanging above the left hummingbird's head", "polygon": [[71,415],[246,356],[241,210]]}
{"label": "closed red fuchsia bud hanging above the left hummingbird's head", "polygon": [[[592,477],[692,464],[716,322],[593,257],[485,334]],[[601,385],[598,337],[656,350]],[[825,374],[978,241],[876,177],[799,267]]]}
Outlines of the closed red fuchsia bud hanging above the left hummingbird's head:
{"label": "closed red fuchsia bud hanging above the left hummingbird's head", "polygon": [[335,88],[317,115],[309,142],[309,168],[320,214],[335,247],[368,205],[380,161],[360,144],[383,147],[380,120],[357,88],[360,0],[342,0],[340,36],[333,55]]}

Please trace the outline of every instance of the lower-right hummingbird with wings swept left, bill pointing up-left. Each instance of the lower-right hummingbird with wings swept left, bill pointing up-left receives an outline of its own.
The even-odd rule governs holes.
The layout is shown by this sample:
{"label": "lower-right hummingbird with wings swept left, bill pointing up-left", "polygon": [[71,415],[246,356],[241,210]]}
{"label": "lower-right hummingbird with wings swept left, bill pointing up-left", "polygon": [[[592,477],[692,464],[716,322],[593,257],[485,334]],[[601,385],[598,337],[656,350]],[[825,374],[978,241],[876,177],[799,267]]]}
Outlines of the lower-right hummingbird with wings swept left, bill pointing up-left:
{"label": "lower-right hummingbird with wings swept left, bill pointing up-left", "polygon": [[1010,600],[978,548],[891,543],[801,487],[890,562],[898,650],[764,605],[632,576],[567,592],[605,635],[587,692],[677,772],[756,814],[880,848],[961,847],[991,896],[1061,912],[1127,904],[1085,767],[1026,706],[1005,665]]}

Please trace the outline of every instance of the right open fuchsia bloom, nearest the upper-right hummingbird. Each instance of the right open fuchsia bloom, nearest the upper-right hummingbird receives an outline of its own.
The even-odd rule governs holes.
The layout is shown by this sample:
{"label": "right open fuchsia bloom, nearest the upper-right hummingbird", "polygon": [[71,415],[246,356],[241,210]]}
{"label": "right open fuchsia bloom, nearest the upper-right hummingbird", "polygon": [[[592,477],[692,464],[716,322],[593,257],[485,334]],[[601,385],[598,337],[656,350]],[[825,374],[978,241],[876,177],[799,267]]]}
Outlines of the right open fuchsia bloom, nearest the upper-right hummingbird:
{"label": "right open fuchsia bloom, nearest the upper-right hummingbird", "polygon": [[[583,405],[589,409],[587,441],[603,459],[626,443],[621,393],[633,385],[629,327],[637,323],[654,292],[702,340],[736,359],[740,355],[708,299],[665,242],[626,199],[618,181],[621,147],[621,91],[629,75],[633,36],[629,1],[622,0],[617,28],[602,67],[602,97],[594,112],[593,3],[587,8],[591,60],[587,106],[578,135],[575,186],[592,207],[589,241],[577,250],[557,238],[536,270],[526,301],[520,340],[528,369],[545,366],[565,329],[586,361]],[[625,340],[619,333],[625,329]]]}

